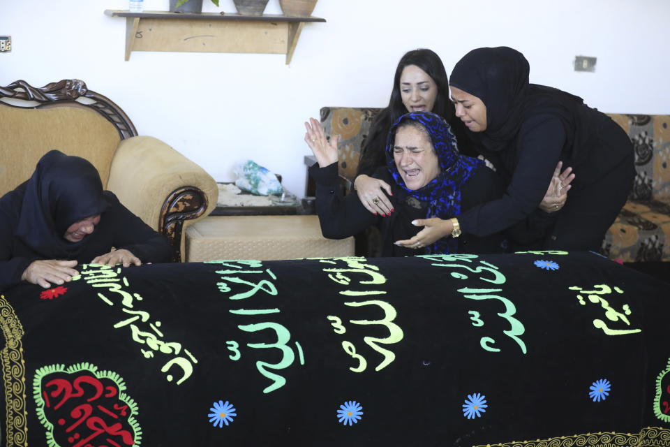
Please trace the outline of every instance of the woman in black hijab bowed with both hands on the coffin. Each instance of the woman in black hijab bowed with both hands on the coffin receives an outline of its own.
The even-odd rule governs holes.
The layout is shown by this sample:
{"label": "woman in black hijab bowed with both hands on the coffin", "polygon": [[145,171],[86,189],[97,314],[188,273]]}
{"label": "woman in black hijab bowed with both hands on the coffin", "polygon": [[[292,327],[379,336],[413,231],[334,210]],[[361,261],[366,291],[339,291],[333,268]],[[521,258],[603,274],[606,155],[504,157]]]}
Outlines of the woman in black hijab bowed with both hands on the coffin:
{"label": "woman in black hijab bowed with both hands on the coffin", "polygon": [[171,257],[165,237],[103,191],[96,168],[80,157],[48,152],[0,199],[0,291],[22,280],[64,284],[77,263],[127,267]]}

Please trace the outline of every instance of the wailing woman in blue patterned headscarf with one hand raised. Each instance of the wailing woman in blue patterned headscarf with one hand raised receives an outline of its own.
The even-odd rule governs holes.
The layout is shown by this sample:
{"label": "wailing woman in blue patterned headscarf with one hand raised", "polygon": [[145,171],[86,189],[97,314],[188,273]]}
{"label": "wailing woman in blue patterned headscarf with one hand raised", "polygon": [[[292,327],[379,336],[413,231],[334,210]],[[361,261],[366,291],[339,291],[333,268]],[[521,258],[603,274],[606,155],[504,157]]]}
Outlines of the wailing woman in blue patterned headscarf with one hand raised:
{"label": "wailing woman in blue patterned headscarf with one hand raised", "polygon": [[305,140],[317,160],[310,174],[316,182],[316,210],[325,237],[342,239],[377,225],[382,256],[504,251],[504,238],[498,233],[475,237],[454,231],[454,237],[427,246],[412,239],[417,226],[424,226],[423,219],[451,221],[470,207],[498,198],[502,191],[496,173],[483,161],[459,154],[456,138],[442,117],[411,112],[392,125],[386,166],[373,175],[392,185],[393,210],[385,215],[368,212],[357,194],[343,197],[337,177],[337,137],[328,140],[315,119],[306,128]]}

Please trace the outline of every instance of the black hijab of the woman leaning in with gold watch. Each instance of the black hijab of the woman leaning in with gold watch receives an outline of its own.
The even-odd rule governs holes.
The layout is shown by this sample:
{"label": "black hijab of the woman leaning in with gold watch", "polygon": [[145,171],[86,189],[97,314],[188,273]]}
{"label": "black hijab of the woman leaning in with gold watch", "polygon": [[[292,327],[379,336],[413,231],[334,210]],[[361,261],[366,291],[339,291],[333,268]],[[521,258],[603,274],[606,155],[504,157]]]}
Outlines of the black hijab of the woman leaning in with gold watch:
{"label": "black hijab of the woman leaning in with gold watch", "polygon": [[486,105],[486,131],[468,135],[488,151],[505,149],[521,125],[535,115],[554,115],[563,123],[565,154],[577,161],[595,135],[596,116],[583,99],[544,85],[530,84],[530,65],[509,47],[477,48],[454,66],[449,85],[477,96]]}

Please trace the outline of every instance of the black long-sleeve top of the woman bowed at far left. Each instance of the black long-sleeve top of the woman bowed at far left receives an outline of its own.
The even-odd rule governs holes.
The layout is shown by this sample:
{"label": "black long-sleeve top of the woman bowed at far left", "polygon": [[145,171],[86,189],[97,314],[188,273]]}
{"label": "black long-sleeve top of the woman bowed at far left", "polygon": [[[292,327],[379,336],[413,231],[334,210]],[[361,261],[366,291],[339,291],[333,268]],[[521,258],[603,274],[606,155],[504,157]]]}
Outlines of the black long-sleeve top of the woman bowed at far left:
{"label": "black long-sleeve top of the woman bowed at far left", "polygon": [[[33,261],[45,259],[15,235],[22,195],[13,193],[3,196],[0,202],[0,291],[18,284]],[[94,232],[86,236],[87,243],[77,255],[77,263],[90,263],[96,256],[109,253],[112,247],[131,251],[142,263],[172,260],[172,247],[163,235],[124,207],[114,193],[105,191],[104,195],[107,210],[101,214]]]}

